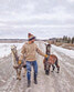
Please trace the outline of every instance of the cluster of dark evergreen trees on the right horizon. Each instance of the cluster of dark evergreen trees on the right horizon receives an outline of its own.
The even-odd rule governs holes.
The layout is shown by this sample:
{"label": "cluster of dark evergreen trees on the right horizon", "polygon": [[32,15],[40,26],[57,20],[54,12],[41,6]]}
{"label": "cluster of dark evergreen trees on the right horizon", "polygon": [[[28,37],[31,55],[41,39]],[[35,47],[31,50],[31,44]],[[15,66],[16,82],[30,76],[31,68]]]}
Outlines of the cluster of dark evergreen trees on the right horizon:
{"label": "cluster of dark evergreen trees on the right horizon", "polygon": [[64,43],[74,43],[74,37],[70,38],[67,35],[64,35],[63,38],[57,38],[56,42],[64,42]]}

